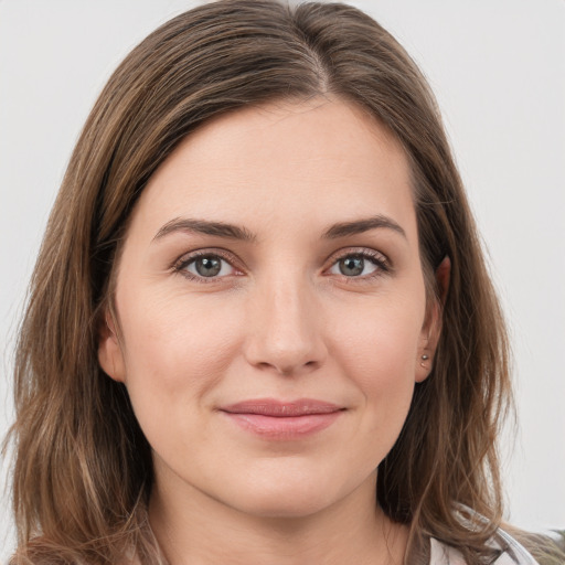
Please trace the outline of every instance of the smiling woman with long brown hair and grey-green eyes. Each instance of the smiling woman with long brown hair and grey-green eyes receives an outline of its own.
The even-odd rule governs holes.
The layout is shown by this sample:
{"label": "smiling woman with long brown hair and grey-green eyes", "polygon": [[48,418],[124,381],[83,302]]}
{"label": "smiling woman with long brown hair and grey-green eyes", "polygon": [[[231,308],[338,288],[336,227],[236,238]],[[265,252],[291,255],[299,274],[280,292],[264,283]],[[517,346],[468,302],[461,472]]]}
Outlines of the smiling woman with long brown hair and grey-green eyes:
{"label": "smiling woman with long brown hair and grey-green eyes", "polygon": [[13,563],[533,563],[500,530],[507,339],[465,193],[353,8],[220,1],[132,51],[15,380]]}

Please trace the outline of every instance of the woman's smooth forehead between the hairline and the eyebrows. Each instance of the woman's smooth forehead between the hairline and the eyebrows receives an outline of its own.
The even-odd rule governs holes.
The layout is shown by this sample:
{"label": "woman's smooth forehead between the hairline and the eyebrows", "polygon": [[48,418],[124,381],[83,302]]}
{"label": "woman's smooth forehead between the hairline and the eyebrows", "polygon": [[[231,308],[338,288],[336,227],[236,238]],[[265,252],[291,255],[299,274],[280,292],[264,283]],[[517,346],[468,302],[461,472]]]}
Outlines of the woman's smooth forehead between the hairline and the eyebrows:
{"label": "woman's smooth forehead between the hairline and the eyebrows", "polygon": [[415,226],[411,185],[399,142],[362,108],[280,102],[221,116],[189,136],[151,177],[135,214],[243,216],[264,227],[288,216],[298,228],[300,220],[312,226],[384,213]]}

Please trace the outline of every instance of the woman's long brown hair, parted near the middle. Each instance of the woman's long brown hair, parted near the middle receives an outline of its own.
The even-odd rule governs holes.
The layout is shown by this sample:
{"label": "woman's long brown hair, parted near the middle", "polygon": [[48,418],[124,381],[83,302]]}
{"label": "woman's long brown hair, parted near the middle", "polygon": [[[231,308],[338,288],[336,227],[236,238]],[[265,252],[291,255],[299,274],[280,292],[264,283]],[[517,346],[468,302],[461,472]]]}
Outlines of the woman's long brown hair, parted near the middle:
{"label": "woman's long brown hair, parted near the middle", "polygon": [[97,323],[111,305],[128,217],[156,169],[205,121],[329,94],[379,117],[403,145],[430,295],[430,274],[444,257],[451,260],[433,374],[416,385],[402,434],[379,468],[379,503],[409,524],[411,563],[426,558],[429,535],[458,547],[469,564],[492,557],[508,343],[426,81],[402,46],[352,7],[220,0],[172,19],[126,57],[71,158],[17,350],[13,564],[115,564],[131,548],[160,562],[143,511],[150,448],[124,385],[97,362]]}

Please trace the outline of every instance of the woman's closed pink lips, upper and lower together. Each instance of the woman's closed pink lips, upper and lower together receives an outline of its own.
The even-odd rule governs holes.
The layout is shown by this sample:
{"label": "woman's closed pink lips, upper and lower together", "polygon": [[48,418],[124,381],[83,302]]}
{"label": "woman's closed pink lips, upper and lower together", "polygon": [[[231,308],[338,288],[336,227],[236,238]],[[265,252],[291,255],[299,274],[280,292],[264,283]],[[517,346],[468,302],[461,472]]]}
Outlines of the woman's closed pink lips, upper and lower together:
{"label": "woman's closed pink lips, upper and lower together", "polygon": [[241,429],[265,439],[280,440],[300,439],[321,431],[331,426],[344,411],[337,404],[312,398],[292,402],[257,398],[220,408]]}

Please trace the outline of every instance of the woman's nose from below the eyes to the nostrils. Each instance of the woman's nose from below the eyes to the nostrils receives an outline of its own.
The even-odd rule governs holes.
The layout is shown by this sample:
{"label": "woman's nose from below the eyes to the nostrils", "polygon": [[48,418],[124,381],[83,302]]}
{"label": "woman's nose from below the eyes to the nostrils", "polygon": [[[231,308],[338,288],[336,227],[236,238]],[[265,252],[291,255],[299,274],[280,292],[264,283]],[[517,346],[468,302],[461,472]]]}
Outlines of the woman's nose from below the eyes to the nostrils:
{"label": "woman's nose from below the eyes to the nostrils", "polygon": [[322,312],[312,295],[303,278],[287,276],[249,297],[248,363],[282,375],[309,373],[323,364]]}

